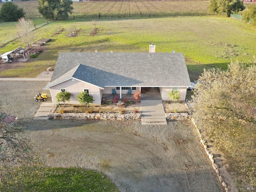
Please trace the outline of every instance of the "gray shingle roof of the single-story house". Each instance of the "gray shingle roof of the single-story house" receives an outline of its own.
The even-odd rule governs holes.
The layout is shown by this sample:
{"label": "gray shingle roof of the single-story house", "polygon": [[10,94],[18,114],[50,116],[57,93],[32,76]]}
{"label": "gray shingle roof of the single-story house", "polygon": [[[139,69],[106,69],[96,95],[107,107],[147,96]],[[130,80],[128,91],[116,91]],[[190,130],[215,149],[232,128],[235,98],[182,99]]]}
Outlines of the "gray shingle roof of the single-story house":
{"label": "gray shingle roof of the single-story house", "polygon": [[190,86],[182,53],[61,52],[49,88],[69,78],[104,86]]}

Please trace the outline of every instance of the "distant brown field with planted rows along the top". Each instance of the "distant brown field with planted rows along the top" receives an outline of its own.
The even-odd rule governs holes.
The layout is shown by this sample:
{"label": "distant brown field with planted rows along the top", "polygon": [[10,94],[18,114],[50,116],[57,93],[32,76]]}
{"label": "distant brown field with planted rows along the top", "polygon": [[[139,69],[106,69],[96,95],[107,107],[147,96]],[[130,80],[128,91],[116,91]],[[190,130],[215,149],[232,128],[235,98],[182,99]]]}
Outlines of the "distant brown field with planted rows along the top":
{"label": "distant brown field with planted rows along the top", "polygon": [[[38,1],[15,2],[26,17],[40,19]],[[209,1],[100,1],[73,2],[70,18],[128,18],[209,15]],[[1,5],[0,5],[1,6]]]}

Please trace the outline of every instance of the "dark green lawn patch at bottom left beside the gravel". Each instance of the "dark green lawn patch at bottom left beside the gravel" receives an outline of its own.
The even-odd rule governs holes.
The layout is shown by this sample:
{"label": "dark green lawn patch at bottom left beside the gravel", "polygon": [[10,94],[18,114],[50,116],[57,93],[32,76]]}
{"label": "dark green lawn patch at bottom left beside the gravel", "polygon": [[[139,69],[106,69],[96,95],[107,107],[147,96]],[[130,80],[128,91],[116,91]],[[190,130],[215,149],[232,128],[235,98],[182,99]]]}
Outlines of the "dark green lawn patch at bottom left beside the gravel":
{"label": "dark green lawn patch at bottom left beside the gravel", "polygon": [[105,175],[81,168],[17,168],[1,191],[24,192],[119,192]]}

